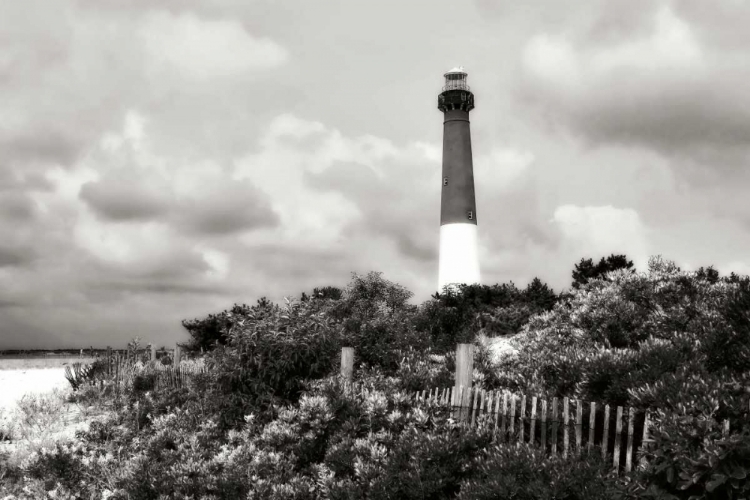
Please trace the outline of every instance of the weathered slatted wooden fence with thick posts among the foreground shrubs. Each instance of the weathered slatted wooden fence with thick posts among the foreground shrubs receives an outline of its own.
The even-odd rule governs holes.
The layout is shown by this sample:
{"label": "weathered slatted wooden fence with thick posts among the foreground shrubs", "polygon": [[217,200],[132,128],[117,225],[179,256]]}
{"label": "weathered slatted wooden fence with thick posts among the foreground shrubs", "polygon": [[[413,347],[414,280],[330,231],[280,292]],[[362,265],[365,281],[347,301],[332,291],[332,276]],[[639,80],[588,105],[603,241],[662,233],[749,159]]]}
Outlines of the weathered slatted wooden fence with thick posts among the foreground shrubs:
{"label": "weathered slatted wooden fence with thick posts among the foreground shrubs", "polygon": [[[540,398],[506,390],[485,391],[471,387],[473,345],[456,348],[453,387],[417,391],[416,400],[450,407],[456,420],[470,426],[490,425],[495,439],[529,443],[550,454],[601,453],[612,460],[618,473],[633,469],[633,457],[648,439],[649,413],[632,407],[610,406],[571,398]],[[354,353],[342,350],[341,376],[351,381]],[[729,420],[722,422],[729,434]]]}

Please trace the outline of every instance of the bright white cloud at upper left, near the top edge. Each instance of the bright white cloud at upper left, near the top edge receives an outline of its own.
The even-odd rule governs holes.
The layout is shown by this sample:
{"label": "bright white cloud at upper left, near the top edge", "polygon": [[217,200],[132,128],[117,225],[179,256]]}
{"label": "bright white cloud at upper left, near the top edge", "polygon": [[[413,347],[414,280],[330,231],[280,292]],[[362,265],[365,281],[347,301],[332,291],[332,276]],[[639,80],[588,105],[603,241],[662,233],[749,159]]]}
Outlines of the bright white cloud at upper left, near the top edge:
{"label": "bright white cloud at upper left, near the top edge", "polygon": [[236,19],[205,20],[191,12],[151,12],[139,30],[156,70],[162,65],[197,79],[224,78],[277,67],[286,49],[250,35]]}

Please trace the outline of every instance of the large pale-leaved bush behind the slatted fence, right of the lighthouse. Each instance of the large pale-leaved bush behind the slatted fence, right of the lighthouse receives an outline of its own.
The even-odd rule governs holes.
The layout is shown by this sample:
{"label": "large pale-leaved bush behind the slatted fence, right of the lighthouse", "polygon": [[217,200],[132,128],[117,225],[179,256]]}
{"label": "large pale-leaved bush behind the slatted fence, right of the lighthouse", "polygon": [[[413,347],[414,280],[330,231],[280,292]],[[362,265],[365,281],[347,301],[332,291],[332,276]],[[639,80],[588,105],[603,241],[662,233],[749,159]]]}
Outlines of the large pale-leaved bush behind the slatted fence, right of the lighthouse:
{"label": "large pale-leaved bush behind the slatted fence, right of the lighthouse", "polygon": [[516,340],[518,354],[499,367],[501,384],[627,405],[629,391],[678,367],[737,373],[744,366],[750,334],[743,333],[739,285],[682,272],[660,258],[651,259],[647,273],[620,270],[605,278],[530,318]]}

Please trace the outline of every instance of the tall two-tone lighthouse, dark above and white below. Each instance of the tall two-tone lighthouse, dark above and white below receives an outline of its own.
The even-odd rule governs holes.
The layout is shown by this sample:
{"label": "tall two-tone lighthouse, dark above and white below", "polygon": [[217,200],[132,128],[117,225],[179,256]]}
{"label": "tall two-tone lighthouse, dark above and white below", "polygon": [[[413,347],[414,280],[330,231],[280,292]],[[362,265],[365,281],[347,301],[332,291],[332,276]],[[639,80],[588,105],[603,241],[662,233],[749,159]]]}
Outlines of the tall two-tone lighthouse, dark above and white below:
{"label": "tall two-tone lighthouse, dark above and white below", "polygon": [[471,158],[469,111],[474,94],[463,68],[445,74],[438,97],[443,112],[443,175],[440,200],[440,264],[438,290],[446,285],[479,283],[477,207]]}

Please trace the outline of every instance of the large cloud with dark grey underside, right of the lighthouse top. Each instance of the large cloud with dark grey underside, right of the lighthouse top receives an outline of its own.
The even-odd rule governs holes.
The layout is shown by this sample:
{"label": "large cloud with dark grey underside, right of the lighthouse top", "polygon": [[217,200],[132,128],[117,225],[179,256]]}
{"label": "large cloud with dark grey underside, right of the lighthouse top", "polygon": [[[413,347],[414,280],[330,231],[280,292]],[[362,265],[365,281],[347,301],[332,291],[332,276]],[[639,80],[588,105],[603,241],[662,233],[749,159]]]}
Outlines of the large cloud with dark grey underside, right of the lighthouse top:
{"label": "large cloud with dark grey underside, right of the lighthouse top", "polygon": [[666,4],[652,12],[645,32],[616,40],[532,37],[523,95],[594,143],[682,154],[746,146],[750,67],[736,64],[744,48],[718,52],[699,36],[698,21]]}

